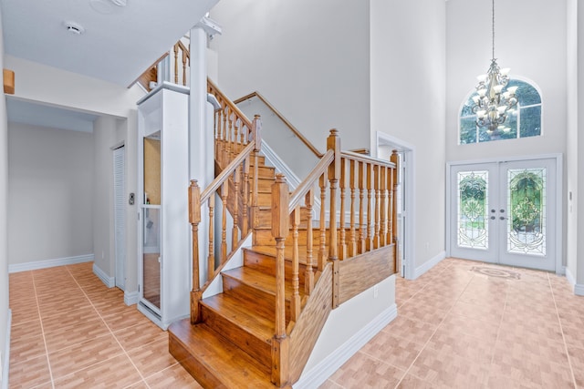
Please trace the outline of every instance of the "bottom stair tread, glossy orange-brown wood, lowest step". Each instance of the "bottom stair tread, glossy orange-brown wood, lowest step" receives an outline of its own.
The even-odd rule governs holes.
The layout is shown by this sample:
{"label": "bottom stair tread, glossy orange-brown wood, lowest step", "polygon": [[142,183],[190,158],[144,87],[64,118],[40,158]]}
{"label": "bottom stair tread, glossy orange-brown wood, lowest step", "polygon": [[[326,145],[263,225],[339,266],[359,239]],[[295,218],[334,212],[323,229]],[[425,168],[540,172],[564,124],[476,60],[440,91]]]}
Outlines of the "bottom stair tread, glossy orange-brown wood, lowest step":
{"label": "bottom stair tread, glossy orange-brown wood, lowest step", "polygon": [[224,387],[275,387],[270,382],[268,367],[206,325],[192,325],[189,319],[184,319],[173,322],[168,331],[193,358],[220,377]]}

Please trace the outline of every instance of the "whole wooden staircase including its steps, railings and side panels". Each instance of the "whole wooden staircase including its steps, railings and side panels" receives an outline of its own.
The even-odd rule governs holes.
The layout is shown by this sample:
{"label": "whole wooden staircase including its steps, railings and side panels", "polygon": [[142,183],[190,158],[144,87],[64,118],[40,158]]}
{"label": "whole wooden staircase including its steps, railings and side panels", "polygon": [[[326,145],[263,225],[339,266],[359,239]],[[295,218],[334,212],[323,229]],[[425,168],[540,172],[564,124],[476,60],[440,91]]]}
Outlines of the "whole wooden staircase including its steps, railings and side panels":
{"label": "whole wooden staircase including its steps, railings and side panels", "polygon": [[[328,152],[290,192],[258,155],[259,118],[250,122],[210,89],[222,104],[215,118],[217,177],[203,192],[191,184],[191,318],[171,324],[169,350],[205,388],[290,387],[328,313],[396,270],[397,169],[341,153],[334,130]],[[222,214],[215,214],[216,202]],[[207,230],[199,230],[202,220]],[[250,233],[252,246],[242,247]],[[240,266],[232,266],[238,255]],[[222,292],[208,292],[218,281]]]}

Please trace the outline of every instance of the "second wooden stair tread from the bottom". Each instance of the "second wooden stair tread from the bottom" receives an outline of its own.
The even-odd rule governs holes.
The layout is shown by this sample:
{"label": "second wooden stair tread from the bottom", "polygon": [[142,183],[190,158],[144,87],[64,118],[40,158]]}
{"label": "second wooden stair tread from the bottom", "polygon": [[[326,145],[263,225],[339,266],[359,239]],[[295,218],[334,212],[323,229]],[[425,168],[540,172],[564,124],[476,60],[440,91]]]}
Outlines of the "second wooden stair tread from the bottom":
{"label": "second wooden stair tread from the bottom", "polygon": [[253,307],[255,302],[242,302],[235,297],[221,293],[207,297],[201,303],[229,322],[235,323],[246,333],[251,333],[256,338],[271,344],[275,331],[274,319],[257,314]]}

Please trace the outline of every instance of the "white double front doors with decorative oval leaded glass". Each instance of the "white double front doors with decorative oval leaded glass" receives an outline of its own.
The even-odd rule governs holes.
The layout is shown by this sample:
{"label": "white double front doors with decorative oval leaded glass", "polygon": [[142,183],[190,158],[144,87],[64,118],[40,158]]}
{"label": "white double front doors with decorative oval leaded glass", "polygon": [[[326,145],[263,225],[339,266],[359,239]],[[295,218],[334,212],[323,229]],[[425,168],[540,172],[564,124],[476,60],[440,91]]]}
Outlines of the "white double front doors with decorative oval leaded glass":
{"label": "white double front doors with decorative oval leaded glass", "polygon": [[556,269],[556,159],[453,165],[450,182],[452,256]]}

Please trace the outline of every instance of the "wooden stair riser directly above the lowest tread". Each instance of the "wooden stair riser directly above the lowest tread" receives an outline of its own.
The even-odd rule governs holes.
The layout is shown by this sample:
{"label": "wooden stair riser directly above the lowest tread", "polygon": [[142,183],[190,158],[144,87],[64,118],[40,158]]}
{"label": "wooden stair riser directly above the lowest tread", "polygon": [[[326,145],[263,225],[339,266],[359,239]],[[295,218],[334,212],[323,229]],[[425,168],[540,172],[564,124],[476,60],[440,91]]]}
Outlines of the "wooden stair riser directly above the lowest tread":
{"label": "wooden stair riser directly above the lowest tread", "polygon": [[[215,333],[224,336],[225,339],[254,357],[259,363],[263,363],[266,366],[271,365],[271,340],[258,339],[254,335],[245,332],[236,324],[229,322],[218,312],[214,312],[205,307],[204,303],[201,303],[201,308],[203,322]],[[225,312],[224,314],[228,315],[229,312]]]}

